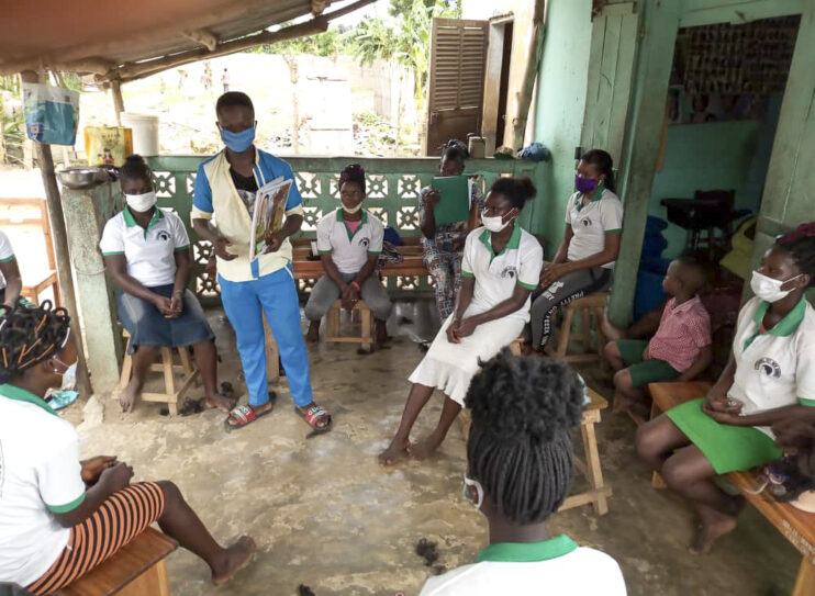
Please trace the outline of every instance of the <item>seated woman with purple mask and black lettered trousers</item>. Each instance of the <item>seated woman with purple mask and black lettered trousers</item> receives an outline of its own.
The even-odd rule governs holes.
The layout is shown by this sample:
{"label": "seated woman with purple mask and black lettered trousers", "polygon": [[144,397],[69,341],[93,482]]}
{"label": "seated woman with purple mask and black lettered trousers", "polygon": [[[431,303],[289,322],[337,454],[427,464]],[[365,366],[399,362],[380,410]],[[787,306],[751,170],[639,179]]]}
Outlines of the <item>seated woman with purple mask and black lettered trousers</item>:
{"label": "seated woman with purple mask and black lettered trousers", "polygon": [[587,151],[578,164],[563,240],[532,296],[533,350],[546,347],[558,306],[611,285],[623,232],[623,204],[614,193],[612,167],[611,156],[602,149]]}

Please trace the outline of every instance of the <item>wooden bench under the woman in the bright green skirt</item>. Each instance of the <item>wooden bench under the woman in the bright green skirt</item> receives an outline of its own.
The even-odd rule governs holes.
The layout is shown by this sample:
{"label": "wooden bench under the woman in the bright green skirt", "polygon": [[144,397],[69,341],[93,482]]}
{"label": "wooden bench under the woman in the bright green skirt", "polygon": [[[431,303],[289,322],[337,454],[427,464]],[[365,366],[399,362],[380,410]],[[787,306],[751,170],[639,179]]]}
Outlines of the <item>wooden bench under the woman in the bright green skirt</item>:
{"label": "wooden bench under the woman in the bright green skirt", "polygon": [[[710,387],[710,383],[701,381],[650,383],[648,389],[654,397],[651,417],[691,400],[705,396]],[[768,492],[755,494],[759,486],[751,472],[730,472],[725,477],[802,554],[801,567],[792,596],[815,595],[815,514],[802,511],[786,503],[779,503]],[[656,474],[655,485],[663,486],[661,479]]]}

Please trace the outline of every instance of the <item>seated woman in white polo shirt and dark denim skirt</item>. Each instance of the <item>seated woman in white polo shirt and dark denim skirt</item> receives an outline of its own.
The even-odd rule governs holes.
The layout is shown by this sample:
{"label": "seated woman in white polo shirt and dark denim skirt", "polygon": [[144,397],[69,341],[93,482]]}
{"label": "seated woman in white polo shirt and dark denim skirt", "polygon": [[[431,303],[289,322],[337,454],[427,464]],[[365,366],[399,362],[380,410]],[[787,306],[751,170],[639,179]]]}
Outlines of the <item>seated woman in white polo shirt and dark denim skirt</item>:
{"label": "seated woman in white polo shirt and dark denim skirt", "polygon": [[120,397],[122,409],[135,407],[159,347],[192,346],[208,405],[228,412],[235,404],[217,392],[215,335],[187,289],[187,229],[178,215],[156,206],[150,170],[142,157],[126,159],[121,184],[127,205],[104,225],[99,246],[119,286],[119,318],[131,335],[133,373]]}

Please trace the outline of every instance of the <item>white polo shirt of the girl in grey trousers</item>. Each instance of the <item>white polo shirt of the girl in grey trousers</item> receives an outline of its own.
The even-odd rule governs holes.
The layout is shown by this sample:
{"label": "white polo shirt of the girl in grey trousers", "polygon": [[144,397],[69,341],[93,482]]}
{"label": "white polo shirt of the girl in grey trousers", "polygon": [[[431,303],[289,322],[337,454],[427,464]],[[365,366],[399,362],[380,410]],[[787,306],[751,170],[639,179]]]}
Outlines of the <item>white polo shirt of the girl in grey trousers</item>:
{"label": "white polo shirt of the girl in grey trousers", "polygon": [[382,252],[384,226],[364,210],[359,226],[351,233],[344,214],[340,207],[317,222],[317,251],[331,255],[340,273],[358,273],[370,255]]}

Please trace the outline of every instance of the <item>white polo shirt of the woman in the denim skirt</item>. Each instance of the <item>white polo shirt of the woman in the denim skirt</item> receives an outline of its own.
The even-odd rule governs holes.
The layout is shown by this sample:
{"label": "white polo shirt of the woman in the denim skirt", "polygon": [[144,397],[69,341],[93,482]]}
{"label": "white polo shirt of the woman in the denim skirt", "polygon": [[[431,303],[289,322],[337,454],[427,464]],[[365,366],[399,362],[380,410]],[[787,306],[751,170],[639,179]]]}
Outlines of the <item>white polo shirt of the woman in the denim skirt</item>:
{"label": "white polo shirt of the woman in the denim skirt", "polygon": [[181,218],[156,207],[147,229],[133,218],[130,207],[108,220],[99,241],[102,255],[124,255],[127,274],[146,288],[168,285],[176,279],[176,252],[190,248]]}

